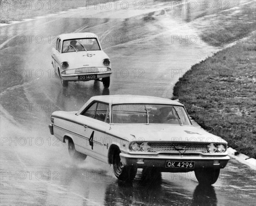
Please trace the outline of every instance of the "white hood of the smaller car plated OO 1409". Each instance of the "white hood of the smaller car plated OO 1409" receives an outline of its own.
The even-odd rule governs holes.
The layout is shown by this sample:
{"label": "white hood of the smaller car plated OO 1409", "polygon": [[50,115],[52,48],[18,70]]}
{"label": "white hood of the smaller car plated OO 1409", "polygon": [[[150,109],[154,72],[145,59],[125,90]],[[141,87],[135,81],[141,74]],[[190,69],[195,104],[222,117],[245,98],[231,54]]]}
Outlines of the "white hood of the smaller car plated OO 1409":
{"label": "white hood of the smaller car plated OO 1409", "polygon": [[90,66],[102,66],[104,59],[109,59],[108,55],[102,50],[87,52],[68,52],[61,54],[61,59],[67,61],[70,65],[68,69]]}

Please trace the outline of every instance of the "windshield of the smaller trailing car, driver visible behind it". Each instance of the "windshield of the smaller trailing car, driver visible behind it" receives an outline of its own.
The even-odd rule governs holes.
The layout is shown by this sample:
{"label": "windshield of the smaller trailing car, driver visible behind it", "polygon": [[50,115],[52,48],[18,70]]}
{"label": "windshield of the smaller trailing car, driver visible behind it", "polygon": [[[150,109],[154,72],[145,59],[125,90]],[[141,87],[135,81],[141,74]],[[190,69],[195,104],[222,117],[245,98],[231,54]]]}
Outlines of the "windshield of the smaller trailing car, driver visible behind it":
{"label": "windshield of the smaller trailing car, driver visible behind it", "polygon": [[63,41],[62,53],[95,50],[100,50],[96,38],[70,39]]}

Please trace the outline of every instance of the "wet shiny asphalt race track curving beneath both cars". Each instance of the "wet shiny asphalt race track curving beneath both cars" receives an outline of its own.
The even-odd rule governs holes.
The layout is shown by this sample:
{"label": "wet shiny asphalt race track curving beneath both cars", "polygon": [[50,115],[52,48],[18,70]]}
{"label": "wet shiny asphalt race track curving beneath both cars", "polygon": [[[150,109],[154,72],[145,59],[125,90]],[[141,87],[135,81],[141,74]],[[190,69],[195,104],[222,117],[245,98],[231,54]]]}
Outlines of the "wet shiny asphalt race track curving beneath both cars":
{"label": "wet shiny asphalt race track curving beneath both cars", "polygon": [[[230,8],[239,9],[244,2],[233,1]],[[143,5],[144,10],[129,6],[127,10],[119,4],[110,10],[90,7],[1,27],[1,35],[7,35],[8,41],[1,41],[0,46],[0,205],[256,204],[255,171],[234,159],[207,188],[198,186],[193,172],[162,173],[155,182],[141,182],[139,171],[134,183],[126,184],[116,180],[109,165],[90,157],[73,164],[67,146],[50,137],[53,111],[76,111],[94,95],[171,98],[178,78],[220,49],[199,38],[188,43],[175,38],[202,35],[200,26],[207,22],[195,28],[194,20],[218,12],[228,15],[228,11],[180,10],[170,2],[152,0]],[[55,35],[70,32],[102,36],[102,47],[112,61],[109,89],[93,81],[70,83],[68,89],[62,89],[50,53]]]}

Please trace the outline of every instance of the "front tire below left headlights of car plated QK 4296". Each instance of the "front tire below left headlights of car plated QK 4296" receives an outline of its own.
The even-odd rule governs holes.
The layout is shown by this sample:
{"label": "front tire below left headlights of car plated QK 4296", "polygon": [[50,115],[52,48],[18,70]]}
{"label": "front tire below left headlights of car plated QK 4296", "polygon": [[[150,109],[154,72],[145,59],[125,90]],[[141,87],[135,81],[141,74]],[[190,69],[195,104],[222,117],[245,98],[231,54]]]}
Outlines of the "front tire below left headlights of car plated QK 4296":
{"label": "front tire below left headlights of car plated QK 4296", "polygon": [[137,174],[137,168],[134,166],[124,166],[122,165],[119,154],[120,150],[116,150],[112,156],[113,172],[117,179],[122,181],[132,181]]}

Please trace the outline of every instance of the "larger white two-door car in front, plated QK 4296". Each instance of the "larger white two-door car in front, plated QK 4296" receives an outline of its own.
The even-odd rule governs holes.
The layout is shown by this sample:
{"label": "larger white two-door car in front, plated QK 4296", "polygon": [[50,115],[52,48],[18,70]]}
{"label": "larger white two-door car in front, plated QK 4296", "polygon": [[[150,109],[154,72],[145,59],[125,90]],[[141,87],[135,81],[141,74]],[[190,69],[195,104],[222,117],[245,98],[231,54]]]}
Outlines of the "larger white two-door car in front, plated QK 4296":
{"label": "larger white two-door car in front, plated QK 4296", "polygon": [[[134,95],[91,97],[78,112],[56,111],[51,134],[71,157],[113,164],[119,180],[143,171],[195,171],[199,183],[216,182],[227,165],[227,142],[193,126],[180,103]],[[152,172],[151,172],[152,173]]]}

